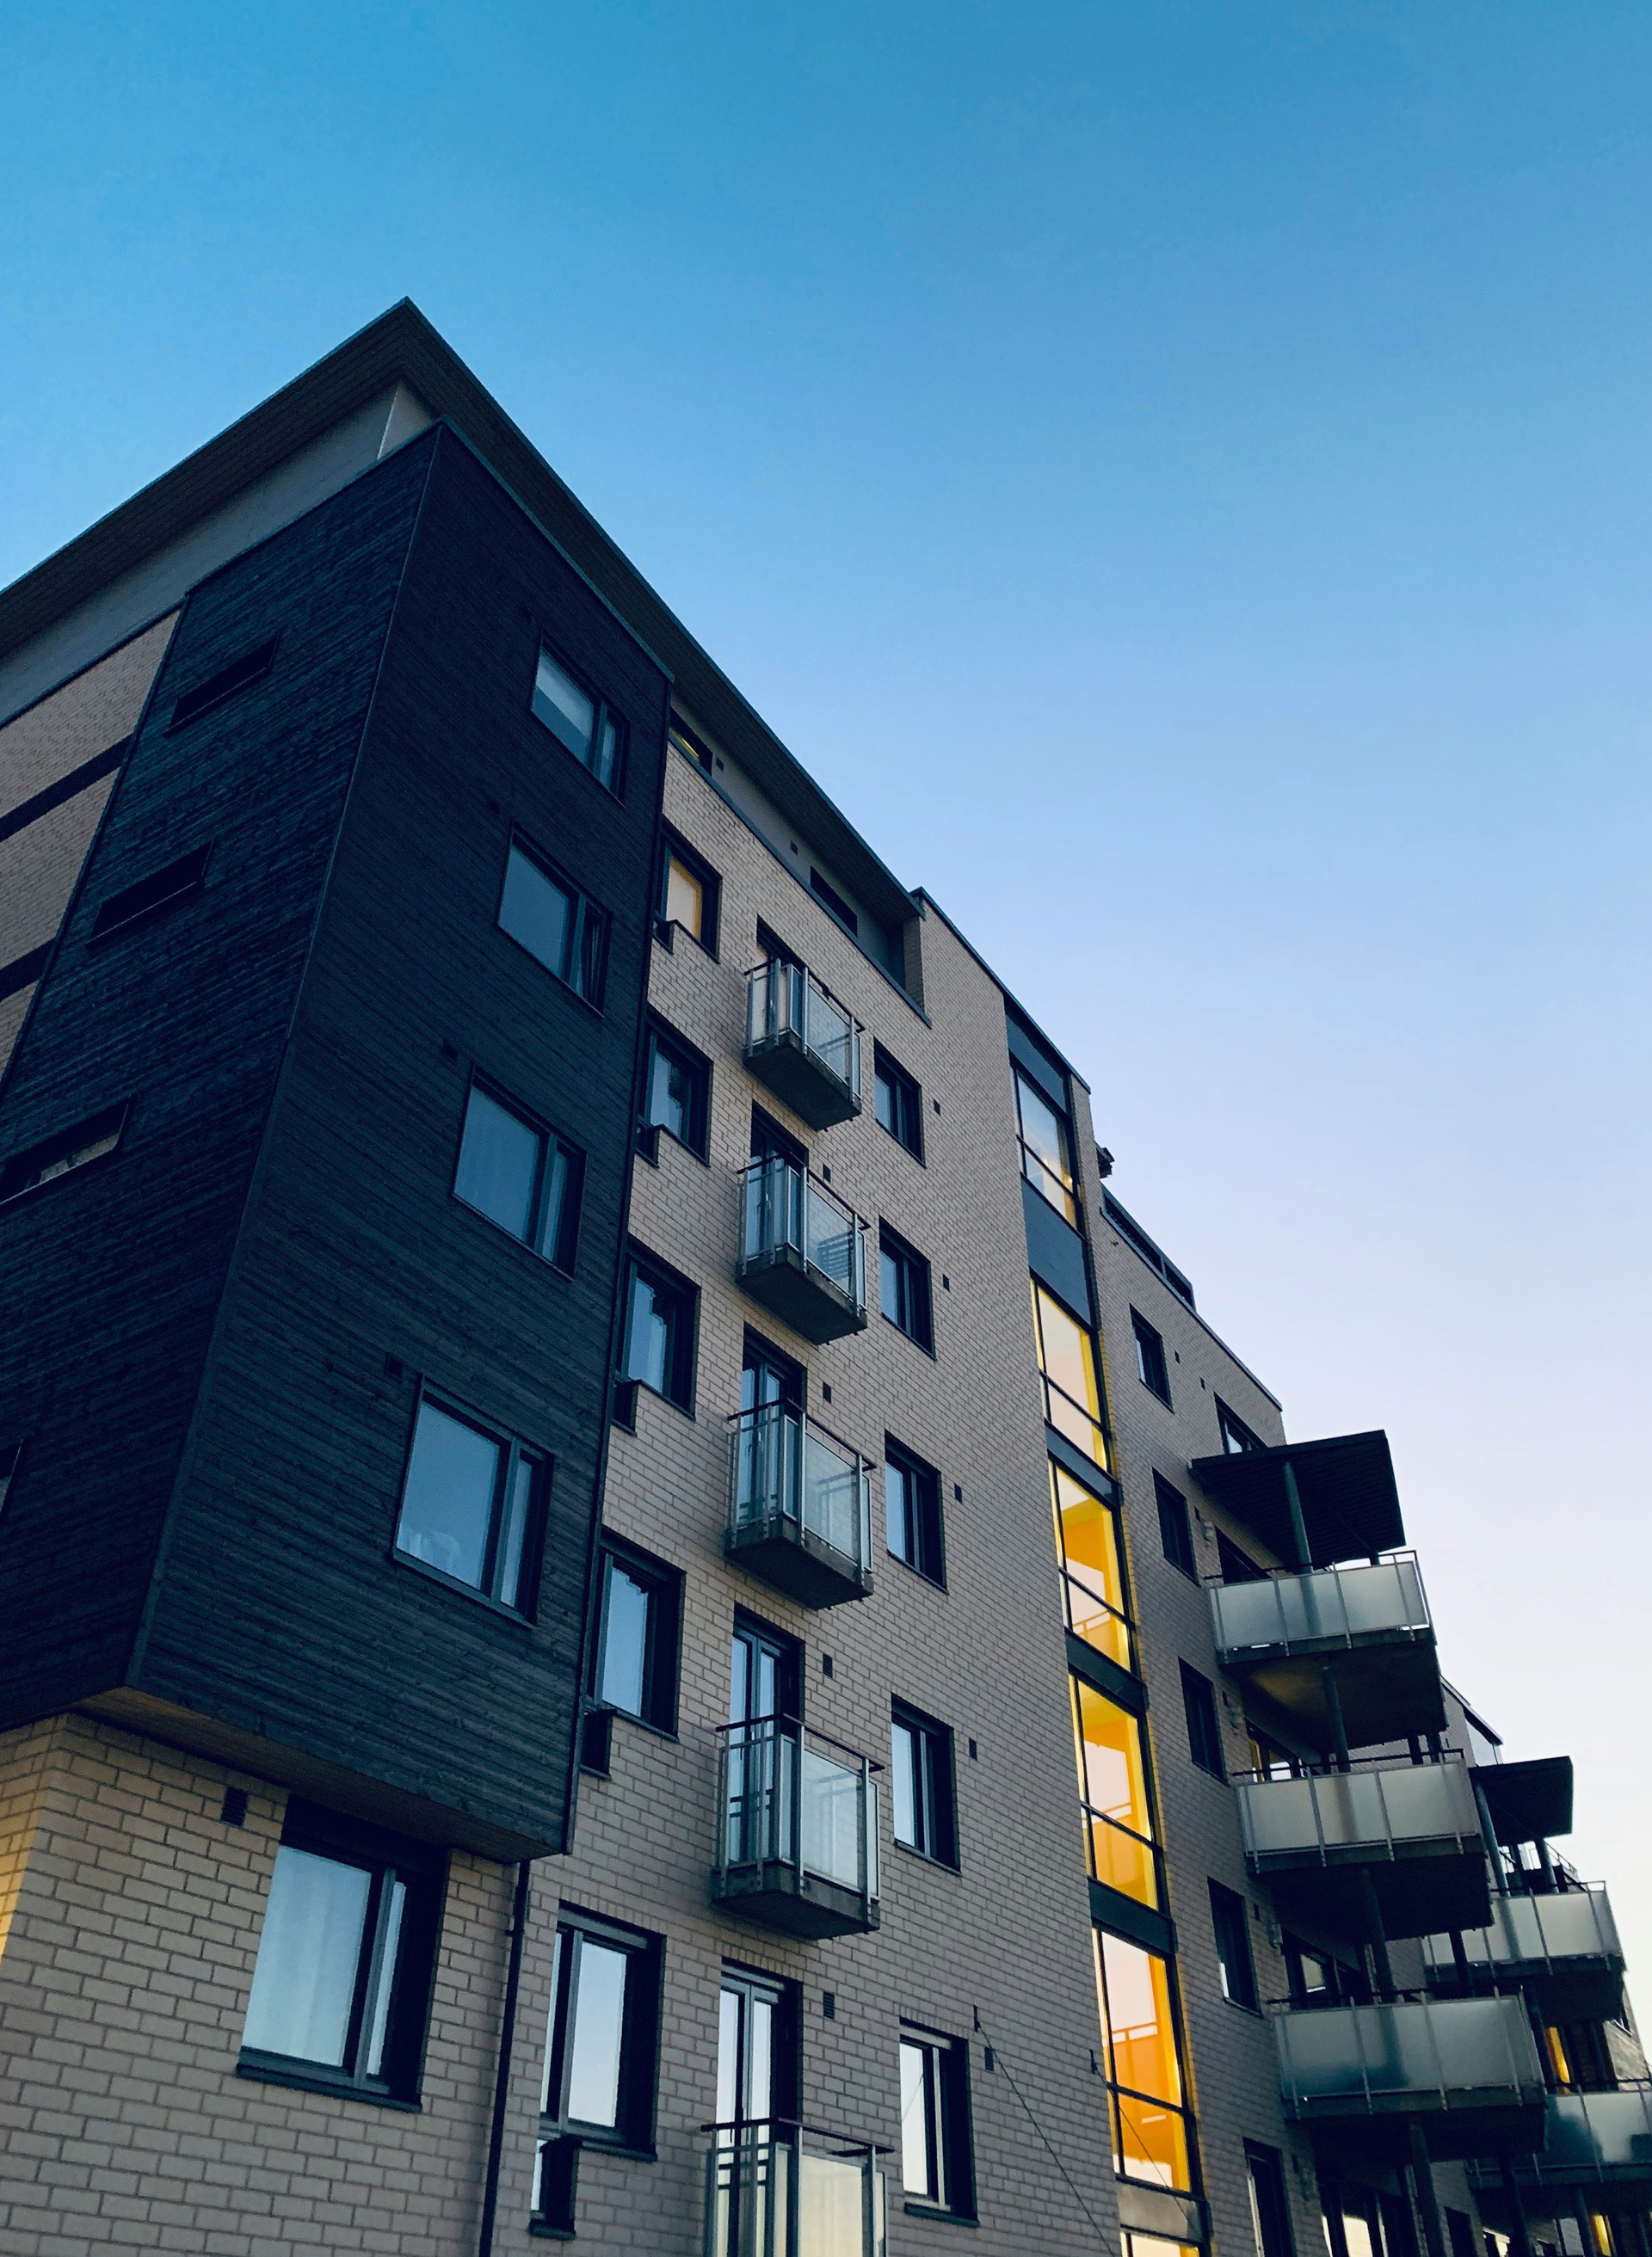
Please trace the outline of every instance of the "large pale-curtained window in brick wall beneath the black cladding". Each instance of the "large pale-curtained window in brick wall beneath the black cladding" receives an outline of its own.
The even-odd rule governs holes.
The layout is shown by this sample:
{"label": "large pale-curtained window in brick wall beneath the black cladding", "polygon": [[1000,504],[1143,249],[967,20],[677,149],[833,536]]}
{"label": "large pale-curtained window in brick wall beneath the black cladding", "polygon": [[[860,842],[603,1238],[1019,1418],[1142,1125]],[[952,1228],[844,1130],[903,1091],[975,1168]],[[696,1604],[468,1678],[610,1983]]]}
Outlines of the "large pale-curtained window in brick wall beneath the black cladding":
{"label": "large pale-curtained window in brick wall beneath the black cladding", "polygon": [[447,1858],[318,1803],[287,1803],[241,2074],[418,2099]]}

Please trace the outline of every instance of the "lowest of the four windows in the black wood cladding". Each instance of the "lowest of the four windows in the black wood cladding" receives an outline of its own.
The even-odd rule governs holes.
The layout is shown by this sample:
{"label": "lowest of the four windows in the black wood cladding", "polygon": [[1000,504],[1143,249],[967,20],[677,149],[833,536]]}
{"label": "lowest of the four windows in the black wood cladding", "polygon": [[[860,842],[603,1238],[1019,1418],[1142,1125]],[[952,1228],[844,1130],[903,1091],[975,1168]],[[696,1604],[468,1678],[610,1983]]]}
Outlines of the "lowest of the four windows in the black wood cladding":
{"label": "lowest of the four windows in the black wood cladding", "polygon": [[413,1426],[395,1548],[451,1582],[533,1611],[551,1460],[427,1395]]}

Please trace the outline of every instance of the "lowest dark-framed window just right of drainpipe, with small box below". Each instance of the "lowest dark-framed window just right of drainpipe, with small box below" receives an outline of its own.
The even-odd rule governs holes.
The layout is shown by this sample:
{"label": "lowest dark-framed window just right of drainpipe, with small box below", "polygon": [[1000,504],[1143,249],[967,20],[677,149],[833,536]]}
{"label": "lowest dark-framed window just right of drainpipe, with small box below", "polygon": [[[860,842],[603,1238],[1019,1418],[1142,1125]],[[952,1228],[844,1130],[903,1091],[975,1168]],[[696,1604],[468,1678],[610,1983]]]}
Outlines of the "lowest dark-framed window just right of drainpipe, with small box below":
{"label": "lowest dark-framed window just right of drainpipe, with small box below", "polygon": [[573,2228],[578,2146],[652,2155],[659,1968],[659,1937],[562,1907],[539,2085],[535,2216],[546,2225]]}

